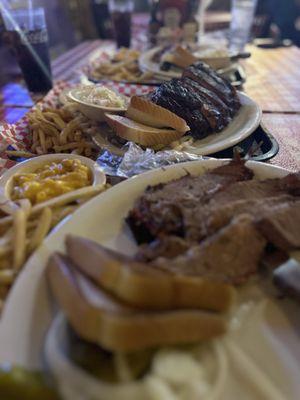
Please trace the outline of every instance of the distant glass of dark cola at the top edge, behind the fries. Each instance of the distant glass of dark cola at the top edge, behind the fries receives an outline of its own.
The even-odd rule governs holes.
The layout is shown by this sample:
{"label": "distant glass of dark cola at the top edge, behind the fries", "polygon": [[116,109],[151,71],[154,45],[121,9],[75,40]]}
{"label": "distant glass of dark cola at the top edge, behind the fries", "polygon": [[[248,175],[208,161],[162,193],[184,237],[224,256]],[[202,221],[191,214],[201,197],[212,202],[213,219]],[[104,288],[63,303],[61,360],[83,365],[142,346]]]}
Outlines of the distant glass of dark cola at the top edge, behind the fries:
{"label": "distant glass of dark cola at the top edge, behind the fries", "polygon": [[109,0],[117,47],[130,47],[133,0]]}

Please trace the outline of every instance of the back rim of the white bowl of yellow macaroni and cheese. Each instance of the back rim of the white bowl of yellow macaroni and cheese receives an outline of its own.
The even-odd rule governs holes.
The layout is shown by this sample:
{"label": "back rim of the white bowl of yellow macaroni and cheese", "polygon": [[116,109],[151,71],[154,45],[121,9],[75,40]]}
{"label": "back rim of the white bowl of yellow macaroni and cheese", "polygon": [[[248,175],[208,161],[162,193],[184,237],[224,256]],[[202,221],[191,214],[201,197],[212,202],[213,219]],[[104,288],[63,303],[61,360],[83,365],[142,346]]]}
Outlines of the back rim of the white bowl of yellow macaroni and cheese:
{"label": "back rim of the white bowl of yellow macaroni and cheese", "polygon": [[14,167],[7,170],[0,178],[0,201],[5,202],[11,200],[10,193],[13,185],[13,178],[15,175],[30,173],[36,171],[38,168],[45,164],[61,161],[64,159],[79,160],[82,164],[86,165],[92,173],[93,185],[105,185],[106,176],[99,165],[90,158],[79,156],[76,154],[46,154],[31,158],[16,164]]}

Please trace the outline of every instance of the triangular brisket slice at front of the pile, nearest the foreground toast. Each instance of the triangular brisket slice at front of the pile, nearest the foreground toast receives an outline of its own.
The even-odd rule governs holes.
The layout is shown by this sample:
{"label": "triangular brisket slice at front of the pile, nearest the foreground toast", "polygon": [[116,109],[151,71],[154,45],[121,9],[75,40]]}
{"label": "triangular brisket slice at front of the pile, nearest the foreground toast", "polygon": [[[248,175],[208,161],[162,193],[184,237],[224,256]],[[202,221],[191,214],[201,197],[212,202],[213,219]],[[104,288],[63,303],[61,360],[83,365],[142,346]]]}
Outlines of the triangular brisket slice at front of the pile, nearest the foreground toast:
{"label": "triangular brisket slice at front of the pile, nearest the foreground toast", "polygon": [[257,272],[266,241],[249,216],[240,215],[215,235],[170,261],[160,257],[151,266],[178,275],[241,284]]}

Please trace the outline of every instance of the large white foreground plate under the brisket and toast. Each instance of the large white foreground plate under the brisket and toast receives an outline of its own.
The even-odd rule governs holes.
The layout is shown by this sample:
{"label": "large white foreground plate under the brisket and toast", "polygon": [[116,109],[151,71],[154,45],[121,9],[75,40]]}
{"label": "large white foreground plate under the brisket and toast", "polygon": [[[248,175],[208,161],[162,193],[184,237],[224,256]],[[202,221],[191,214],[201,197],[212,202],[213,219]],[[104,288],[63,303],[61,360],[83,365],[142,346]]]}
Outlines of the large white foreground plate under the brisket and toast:
{"label": "large white foreground plate under the brisket and toast", "polygon": [[[11,291],[0,322],[0,363],[42,365],[44,337],[54,316],[44,269],[49,254],[63,250],[66,233],[130,254],[136,245],[124,217],[146,186],[179,178],[187,171],[201,174],[224,162],[202,160],[139,175],[90,200],[61,223],[29,259]],[[287,174],[284,169],[257,162],[248,166],[258,178]],[[222,400],[296,400],[300,393],[299,307],[267,298],[256,286],[252,289],[251,300],[238,311],[243,323],[225,343],[230,370]]]}

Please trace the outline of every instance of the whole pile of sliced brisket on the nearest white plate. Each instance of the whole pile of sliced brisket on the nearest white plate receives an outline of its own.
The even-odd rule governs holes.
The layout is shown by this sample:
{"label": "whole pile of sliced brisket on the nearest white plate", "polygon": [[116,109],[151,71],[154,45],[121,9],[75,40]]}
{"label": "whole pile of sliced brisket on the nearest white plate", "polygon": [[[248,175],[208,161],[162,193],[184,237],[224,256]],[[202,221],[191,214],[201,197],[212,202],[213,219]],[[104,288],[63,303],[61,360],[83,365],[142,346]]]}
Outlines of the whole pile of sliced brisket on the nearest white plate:
{"label": "whole pile of sliced brisket on the nearest white plate", "polygon": [[128,217],[134,231],[146,233],[136,257],[149,267],[235,285],[261,265],[276,267],[300,248],[300,174],[252,178],[233,160],[147,188]]}

